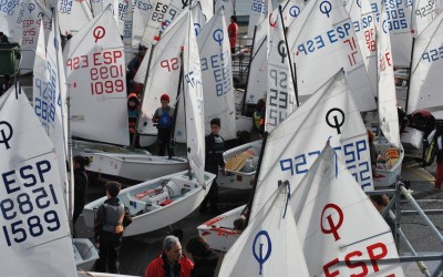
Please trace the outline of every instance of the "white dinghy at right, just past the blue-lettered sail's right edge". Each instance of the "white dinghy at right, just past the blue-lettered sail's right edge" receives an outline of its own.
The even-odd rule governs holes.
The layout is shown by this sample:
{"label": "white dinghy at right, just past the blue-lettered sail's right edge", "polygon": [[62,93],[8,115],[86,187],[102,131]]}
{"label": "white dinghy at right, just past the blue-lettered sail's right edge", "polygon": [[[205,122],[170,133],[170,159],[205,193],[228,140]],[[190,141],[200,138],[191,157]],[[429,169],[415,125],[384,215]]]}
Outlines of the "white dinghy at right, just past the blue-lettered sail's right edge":
{"label": "white dinghy at right, just past the blue-lettered sail's right edge", "polygon": [[[384,141],[381,144],[378,144],[374,142],[375,147],[378,151],[385,151],[388,148],[391,148],[391,145]],[[399,150],[400,156],[399,160],[395,162],[395,164],[392,164],[389,166],[389,168],[377,168],[373,177],[374,182],[374,187],[384,187],[384,186],[390,186],[393,185],[396,181],[400,178],[401,174],[401,167],[404,158],[404,150],[403,146]]]}

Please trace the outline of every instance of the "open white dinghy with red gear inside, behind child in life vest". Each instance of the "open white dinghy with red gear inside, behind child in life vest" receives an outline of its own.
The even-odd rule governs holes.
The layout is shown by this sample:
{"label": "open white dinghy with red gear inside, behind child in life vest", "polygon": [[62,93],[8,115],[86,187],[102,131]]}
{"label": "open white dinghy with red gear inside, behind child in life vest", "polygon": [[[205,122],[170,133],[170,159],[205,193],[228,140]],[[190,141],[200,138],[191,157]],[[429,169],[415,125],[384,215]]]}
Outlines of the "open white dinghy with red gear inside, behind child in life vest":
{"label": "open white dinghy with red gear inside, behind child in life vest", "polygon": [[[202,186],[194,177],[189,179],[185,171],[122,189],[119,198],[133,215],[133,222],[125,228],[123,236],[148,233],[184,218],[200,205],[214,178],[214,174],[205,173],[205,184]],[[158,189],[162,181],[166,179],[171,183]],[[95,212],[105,199],[102,197],[84,206],[83,216],[87,227],[94,226]]]}

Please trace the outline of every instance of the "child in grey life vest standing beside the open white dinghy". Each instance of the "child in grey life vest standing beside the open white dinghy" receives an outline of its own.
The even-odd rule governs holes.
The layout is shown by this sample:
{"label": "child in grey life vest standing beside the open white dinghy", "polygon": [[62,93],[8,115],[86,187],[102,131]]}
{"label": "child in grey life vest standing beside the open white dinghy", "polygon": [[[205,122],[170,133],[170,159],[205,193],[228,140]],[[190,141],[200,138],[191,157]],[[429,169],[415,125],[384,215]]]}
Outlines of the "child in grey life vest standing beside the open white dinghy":
{"label": "child in grey life vest standing beside the open white dinghy", "polygon": [[95,222],[95,246],[100,250],[100,258],[95,270],[119,274],[119,255],[123,235],[124,205],[117,198],[122,185],[119,182],[105,184],[107,199],[99,207]]}

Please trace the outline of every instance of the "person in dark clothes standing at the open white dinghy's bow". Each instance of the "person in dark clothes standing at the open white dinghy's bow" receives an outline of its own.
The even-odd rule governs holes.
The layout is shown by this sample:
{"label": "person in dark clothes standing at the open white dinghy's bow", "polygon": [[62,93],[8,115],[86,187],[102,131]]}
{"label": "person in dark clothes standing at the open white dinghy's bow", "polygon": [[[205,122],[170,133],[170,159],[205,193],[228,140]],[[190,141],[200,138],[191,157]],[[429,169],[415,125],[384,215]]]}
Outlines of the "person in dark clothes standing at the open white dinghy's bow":
{"label": "person in dark clothes standing at the open white dinghy's bow", "polygon": [[210,214],[218,215],[218,166],[222,167],[223,174],[226,175],[225,160],[223,158],[223,152],[225,150],[225,141],[218,134],[222,129],[220,119],[210,120],[210,134],[205,137],[205,171],[216,175],[213,181],[209,192],[203,199],[199,212],[200,214],[207,213],[207,203],[210,204]]}

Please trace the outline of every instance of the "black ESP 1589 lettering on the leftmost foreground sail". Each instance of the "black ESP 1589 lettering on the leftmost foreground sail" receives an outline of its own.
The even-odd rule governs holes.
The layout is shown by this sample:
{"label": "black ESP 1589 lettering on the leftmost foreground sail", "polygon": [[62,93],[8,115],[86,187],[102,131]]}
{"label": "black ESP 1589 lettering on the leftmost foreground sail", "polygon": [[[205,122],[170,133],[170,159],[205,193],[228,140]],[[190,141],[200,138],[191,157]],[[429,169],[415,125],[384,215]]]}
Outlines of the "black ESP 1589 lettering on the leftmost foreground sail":
{"label": "black ESP 1589 lettering on the leftmost foreground sail", "polygon": [[1,174],[10,196],[0,201],[1,229],[8,246],[60,229],[59,214],[53,209],[59,199],[53,185],[44,184],[44,173],[50,168],[48,161],[41,161]]}

